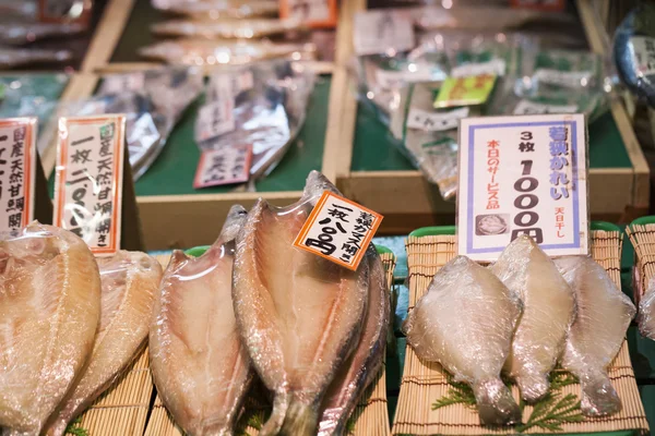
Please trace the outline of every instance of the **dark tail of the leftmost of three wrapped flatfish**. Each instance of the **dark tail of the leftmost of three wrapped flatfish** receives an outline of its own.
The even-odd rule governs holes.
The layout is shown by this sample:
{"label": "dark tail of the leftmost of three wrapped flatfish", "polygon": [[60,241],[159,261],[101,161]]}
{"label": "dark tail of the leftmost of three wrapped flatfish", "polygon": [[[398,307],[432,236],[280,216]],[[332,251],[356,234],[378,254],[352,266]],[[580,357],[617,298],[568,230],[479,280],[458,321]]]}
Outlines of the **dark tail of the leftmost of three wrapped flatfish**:
{"label": "dark tail of the leftmost of three wrapped flatfish", "polygon": [[473,391],[484,425],[511,425],[521,422],[521,409],[500,377],[475,382]]}

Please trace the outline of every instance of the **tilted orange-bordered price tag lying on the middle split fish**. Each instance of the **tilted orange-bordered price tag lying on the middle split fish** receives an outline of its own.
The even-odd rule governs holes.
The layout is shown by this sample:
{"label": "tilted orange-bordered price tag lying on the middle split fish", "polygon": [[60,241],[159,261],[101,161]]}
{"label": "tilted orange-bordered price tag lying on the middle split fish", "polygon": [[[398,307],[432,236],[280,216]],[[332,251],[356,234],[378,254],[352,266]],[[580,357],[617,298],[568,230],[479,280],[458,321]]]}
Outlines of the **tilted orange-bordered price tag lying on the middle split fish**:
{"label": "tilted orange-bordered price tag lying on the middle split fish", "polygon": [[294,246],[356,270],[382,218],[371,209],[325,191]]}

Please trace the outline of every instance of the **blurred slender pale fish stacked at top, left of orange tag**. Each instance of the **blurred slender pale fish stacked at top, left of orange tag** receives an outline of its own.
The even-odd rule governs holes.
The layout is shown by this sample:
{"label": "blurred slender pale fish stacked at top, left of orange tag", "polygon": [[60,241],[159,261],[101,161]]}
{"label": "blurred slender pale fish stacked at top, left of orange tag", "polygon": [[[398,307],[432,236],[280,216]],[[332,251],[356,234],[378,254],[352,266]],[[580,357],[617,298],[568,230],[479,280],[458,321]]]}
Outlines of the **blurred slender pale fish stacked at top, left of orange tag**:
{"label": "blurred slender pale fish stacked at top, left of orange tag", "polygon": [[153,0],[158,10],[182,17],[157,23],[152,31],[166,39],[144,47],[140,55],[186,65],[241,65],[271,58],[313,59],[311,44],[275,43],[277,37],[302,29],[302,22],[272,17],[274,0]]}

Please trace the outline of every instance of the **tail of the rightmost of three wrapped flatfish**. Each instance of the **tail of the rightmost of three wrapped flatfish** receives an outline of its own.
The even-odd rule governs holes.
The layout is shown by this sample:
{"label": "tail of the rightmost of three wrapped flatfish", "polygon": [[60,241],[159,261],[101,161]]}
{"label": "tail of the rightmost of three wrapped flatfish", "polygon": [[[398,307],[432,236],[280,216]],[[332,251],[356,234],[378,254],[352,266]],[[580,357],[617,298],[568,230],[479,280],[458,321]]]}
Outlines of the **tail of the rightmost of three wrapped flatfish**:
{"label": "tail of the rightmost of three wrapped flatfish", "polygon": [[605,416],[621,410],[621,399],[605,372],[580,377],[582,412],[587,416]]}

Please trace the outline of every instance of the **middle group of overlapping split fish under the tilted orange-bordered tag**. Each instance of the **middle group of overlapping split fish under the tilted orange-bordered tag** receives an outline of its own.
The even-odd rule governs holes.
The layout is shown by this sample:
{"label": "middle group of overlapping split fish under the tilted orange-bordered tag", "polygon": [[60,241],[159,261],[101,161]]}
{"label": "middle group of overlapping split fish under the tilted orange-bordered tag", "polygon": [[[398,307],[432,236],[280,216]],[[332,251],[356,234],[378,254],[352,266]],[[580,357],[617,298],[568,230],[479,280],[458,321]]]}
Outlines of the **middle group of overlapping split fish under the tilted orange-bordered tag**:
{"label": "middle group of overlapping split fish under the tilted orange-bordered tag", "polygon": [[260,434],[341,435],[378,374],[390,300],[377,252],[352,271],[293,247],[324,191],[337,192],[314,171],[297,203],[234,206],[205,254],[174,252],[155,298],[151,367],[187,434],[231,434],[259,377],[273,397]]}

